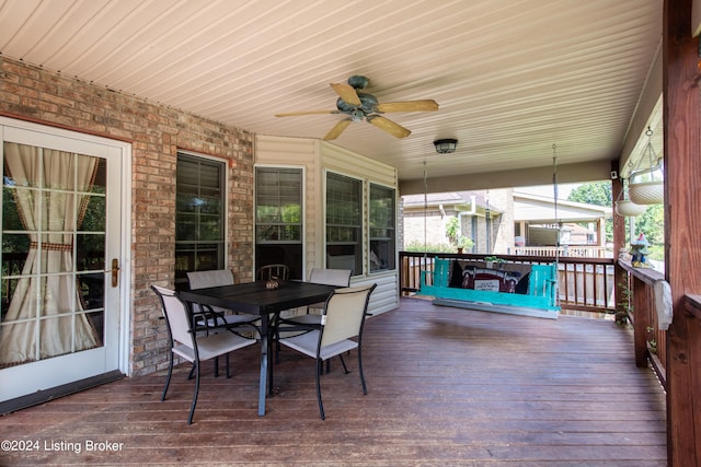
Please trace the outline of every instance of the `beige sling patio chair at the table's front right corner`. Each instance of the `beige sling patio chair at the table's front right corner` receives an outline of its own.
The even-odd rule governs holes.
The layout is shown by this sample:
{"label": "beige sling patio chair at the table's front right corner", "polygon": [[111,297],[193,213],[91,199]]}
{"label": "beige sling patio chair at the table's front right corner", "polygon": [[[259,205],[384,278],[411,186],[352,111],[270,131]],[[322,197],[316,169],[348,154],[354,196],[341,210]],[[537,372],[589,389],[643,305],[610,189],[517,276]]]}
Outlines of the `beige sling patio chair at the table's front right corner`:
{"label": "beige sling patio chair at the table's front right corner", "polygon": [[363,325],[367,314],[370,294],[377,284],[335,290],[326,300],[319,329],[280,340],[283,346],[297,350],[317,361],[317,399],[319,415],[325,419],[324,406],[321,400],[321,370],[323,362],[334,357],[341,359],[343,370],[348,369],[343,360],[343,353],[357,349],[358,372],[363,384],[363,394],[367,395],[365,375],[363,374]]}

